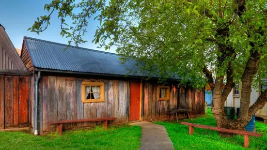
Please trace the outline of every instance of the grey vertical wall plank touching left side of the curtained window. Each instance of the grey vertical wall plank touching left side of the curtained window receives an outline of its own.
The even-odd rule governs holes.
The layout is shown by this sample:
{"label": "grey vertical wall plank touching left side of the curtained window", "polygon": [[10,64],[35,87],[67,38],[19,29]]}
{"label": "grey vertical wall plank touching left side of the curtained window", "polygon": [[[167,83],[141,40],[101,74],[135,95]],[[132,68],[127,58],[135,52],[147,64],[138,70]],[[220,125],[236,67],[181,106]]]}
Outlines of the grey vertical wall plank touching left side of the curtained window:
{"label": "grey vertical wall plank touching left side of the curtained window", "polygon": [[[76,109],[77,109],[77,119],[84,119],[84,108],[83,103],[81,101],[81,82],[82,78],[76,79]],[[84,122],[77,123],[77,127],[84,126]]]}

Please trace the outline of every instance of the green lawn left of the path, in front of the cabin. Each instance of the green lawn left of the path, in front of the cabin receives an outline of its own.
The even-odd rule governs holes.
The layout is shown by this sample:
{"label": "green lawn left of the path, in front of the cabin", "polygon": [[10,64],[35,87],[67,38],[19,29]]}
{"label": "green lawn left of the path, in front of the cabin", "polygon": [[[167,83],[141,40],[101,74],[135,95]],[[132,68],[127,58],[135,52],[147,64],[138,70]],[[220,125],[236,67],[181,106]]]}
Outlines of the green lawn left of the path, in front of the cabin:
{"label": "green lawn left of the path, in front of the cabin", "polygon": [[24,132],[0,132],[0,150],[138,150],[141,142],[140,126],[95,127],[34,136]]}

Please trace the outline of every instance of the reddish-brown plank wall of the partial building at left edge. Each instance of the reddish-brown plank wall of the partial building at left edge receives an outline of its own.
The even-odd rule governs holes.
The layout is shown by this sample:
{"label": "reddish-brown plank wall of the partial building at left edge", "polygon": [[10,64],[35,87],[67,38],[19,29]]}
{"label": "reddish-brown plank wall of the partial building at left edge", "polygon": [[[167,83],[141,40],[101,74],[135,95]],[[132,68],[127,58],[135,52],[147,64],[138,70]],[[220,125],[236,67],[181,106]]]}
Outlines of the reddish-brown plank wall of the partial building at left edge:
{"label": "reddish-brown plank wall of the partial building at left edge", "polygon": [[29,76],[0,75],[0,129],[29,126]]}

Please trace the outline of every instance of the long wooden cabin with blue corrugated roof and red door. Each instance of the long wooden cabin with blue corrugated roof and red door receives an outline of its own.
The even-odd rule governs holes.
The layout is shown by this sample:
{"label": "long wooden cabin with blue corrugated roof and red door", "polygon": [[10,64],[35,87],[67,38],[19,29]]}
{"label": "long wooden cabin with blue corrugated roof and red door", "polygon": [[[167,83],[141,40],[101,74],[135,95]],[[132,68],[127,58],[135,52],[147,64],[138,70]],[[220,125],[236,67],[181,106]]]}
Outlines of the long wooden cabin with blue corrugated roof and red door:
{"label": "long wooden cabin with blue corrugated roof and red door", "polygon": [[[117,54],[24,37],[21,59],[31,75],[30,128],[34,125],[33,89],[38,83],[38,134],[56,131],[50,121],[116,117],[109,125],[169,120],[169,112],[190,109],[204,114],[204,89],[179,86],[178,78],[158,84],[144,76],[134,61],[121,64]],[[135,74],[129,74],[131,69]],[[101,122],[70,123],[63,130],[92,128]],[[32,129],[33,130],[33,129]]]}

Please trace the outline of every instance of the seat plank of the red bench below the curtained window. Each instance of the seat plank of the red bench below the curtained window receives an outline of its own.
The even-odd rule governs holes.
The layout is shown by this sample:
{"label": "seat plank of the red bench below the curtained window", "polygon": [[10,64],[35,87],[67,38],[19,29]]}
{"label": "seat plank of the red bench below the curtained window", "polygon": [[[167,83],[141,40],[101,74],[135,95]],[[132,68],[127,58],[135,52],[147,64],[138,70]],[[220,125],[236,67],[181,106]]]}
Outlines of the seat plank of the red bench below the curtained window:
{"label": "seat plank of the red bench below the curtained window", "polygon": [[116,117],[108,117],[108,118],[91,118],[91,119],[79,119],[79,120],[63,120],[63,121],[47,122],[47,124],[93,122],[93,121],[106,121],[106,120],[116,120],[116,119],[117,119]]}

